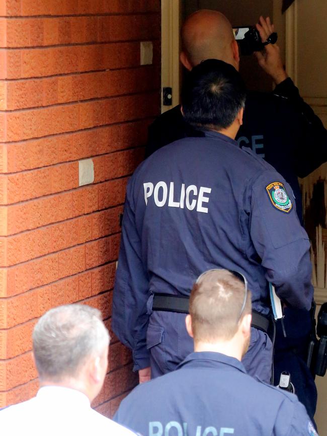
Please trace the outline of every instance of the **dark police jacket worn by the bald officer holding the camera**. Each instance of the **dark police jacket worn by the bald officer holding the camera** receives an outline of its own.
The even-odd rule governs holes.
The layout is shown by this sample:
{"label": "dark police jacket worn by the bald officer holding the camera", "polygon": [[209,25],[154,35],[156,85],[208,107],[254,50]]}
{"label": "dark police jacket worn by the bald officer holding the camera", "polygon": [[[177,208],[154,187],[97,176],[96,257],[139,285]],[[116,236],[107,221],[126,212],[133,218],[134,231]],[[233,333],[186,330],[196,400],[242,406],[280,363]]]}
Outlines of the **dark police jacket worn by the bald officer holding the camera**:
{"label": "dark police jacket worn by the bald officer holding the camera", "polygon": [[[202,132],[188,126],[180,106],[176,106],[150,125],[145,155],[194,135]],[[290,78],[277,85],[273,93],[248,93],[236,140],[270,163],[291,185],[302,222],[298,177],[307,176],[327,161],[327,131]]]}

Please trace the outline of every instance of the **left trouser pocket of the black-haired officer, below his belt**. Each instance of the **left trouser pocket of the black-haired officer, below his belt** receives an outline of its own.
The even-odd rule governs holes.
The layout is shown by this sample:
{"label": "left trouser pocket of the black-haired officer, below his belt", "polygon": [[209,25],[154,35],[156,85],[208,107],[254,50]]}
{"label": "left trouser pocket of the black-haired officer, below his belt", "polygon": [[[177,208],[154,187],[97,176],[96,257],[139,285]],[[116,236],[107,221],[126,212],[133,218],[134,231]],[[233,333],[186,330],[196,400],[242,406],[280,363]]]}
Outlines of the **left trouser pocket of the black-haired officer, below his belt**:
{"label": "left trouser pocket of the black-haired officer, below his belt", "polygon": [[146,348],[150,352],[151,367],[153,364],[162,372],[167,373],[165,329],[160,326],[149,324],[146,332]]}

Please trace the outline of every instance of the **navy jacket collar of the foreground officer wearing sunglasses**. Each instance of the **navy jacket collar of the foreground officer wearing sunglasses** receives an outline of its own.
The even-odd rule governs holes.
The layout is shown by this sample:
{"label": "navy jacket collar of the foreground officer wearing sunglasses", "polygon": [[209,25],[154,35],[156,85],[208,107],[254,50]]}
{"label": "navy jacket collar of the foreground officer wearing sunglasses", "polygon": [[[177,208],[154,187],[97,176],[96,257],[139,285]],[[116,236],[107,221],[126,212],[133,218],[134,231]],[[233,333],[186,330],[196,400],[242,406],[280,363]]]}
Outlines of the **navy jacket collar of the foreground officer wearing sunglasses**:
{"label": "navy jacket collar of the foreground officer wearing sunglasses", "polygon": [[243,364],[235,357],[226,356],[214,351],[194,351],[181,362],[178,369],[182,367],[221,368],[224,365],[246,373]]}

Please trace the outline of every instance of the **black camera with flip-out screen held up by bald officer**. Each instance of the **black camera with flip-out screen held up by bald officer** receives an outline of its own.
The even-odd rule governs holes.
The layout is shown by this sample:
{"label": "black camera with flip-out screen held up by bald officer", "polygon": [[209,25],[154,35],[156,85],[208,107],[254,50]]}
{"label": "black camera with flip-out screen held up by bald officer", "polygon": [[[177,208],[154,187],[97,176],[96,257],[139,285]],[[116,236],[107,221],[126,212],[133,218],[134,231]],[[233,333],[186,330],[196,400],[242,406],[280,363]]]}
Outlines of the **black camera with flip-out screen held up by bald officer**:
{"label": "black camera with flip-out screen held up by bald officer", "polygon": [[235,27],[233,29],[235,39],[238,43],[240,54],[249,55],[254,51],[261,51],[267,44],[275,44],[277,42],[277,33],[272,33],[267,41],[262,42],[259,31],[256,27]]}

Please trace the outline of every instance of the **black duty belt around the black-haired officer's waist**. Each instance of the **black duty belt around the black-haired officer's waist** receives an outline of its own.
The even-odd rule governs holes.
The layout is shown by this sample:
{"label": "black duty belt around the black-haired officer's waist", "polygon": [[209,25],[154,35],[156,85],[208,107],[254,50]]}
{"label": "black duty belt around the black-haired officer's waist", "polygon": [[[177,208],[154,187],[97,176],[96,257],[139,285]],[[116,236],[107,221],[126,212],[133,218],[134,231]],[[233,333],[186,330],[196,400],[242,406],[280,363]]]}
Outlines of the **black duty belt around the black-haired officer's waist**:
{"label": "black duty belt around the black-haired officer's waist", "polygon": [[[170,294],[154,294],[152,310],[163,312],[189,313],[189,297]],[[252,327],[268,333],[270,319],[252,311]]]}

